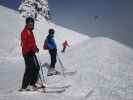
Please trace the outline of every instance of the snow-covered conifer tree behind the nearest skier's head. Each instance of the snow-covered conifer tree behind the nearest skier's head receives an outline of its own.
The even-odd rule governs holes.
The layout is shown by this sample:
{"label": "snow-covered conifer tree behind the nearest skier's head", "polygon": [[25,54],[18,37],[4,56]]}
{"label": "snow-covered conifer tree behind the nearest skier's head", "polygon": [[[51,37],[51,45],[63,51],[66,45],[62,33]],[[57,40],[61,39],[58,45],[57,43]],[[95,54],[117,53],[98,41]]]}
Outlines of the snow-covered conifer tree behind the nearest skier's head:
{"label": "snow-covered conifer tree behind the nearest skier's head", "polygon": [[47,0],[21,0],[19,12],[23,17],[31,16],[37,19],[40,14],[46,19],[50,18]]}

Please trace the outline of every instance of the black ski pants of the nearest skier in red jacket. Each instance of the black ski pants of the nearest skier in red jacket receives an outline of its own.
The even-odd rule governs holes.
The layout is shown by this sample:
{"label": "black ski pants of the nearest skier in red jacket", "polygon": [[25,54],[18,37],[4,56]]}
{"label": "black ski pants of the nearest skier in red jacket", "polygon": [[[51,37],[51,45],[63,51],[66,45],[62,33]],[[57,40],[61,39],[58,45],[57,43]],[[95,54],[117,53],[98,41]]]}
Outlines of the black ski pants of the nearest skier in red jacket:
{"label": "black ski pants of the nearest skier in red jacket", "polygon": [[34,86],[38,80],[40,66],[35,54],[28,53],[23,56],[25,61],[25,72],[22,81],[22,88],[28,85]]}

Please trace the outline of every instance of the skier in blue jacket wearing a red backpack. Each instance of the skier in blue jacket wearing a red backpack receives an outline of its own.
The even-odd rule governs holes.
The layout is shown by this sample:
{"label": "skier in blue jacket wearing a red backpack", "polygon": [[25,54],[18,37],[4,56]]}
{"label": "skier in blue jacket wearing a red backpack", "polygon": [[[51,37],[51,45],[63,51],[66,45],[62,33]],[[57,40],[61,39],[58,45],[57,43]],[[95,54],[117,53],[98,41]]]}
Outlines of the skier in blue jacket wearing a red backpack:
{"label": "skier in blue jacket wearing a red backpack", "polygon": [[[46,37],[44,46],[43,46],[44,49],[48,49],[50,57],[51,57],[51,64],[50,64],[48,74],[47,74],[48,76],[56,75],[58,73],[58,71],[55,70],[55,64],[57,62],[57,58],[56,58],[57,45],[56,45],[56,42],[54,39],[54,33],[55,33],[54,29],[49,29],[49,34]],[[46,46],[46,44],[47,44],[47,46]]]}

